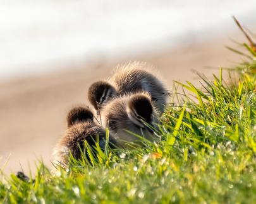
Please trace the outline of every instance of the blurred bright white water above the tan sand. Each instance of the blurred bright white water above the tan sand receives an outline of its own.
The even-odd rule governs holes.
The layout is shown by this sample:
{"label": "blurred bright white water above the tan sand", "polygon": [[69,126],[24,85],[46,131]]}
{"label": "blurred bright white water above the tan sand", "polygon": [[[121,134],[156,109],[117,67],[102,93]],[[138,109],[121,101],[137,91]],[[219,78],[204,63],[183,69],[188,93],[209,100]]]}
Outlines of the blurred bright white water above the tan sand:
{"label": "blurred bright white water above the tan sand", "polygon": [[231,15],[255,21],[255,11],[255,0],[0,0],[0,78],[39,72],[42,62],[138,52],[163,38],[174,46],[186,33],[223,32]]}

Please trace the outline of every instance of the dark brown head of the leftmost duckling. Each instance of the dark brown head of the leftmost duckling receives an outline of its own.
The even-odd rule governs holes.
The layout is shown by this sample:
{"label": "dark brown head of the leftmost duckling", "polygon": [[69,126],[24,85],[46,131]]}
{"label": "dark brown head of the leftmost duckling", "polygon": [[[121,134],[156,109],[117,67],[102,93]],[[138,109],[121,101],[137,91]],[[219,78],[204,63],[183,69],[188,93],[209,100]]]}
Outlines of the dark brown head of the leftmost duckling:
{"label": "dark brown head of the leftmost duckling", "polygon": [[75,123],[93,122],[94,114],[88,108],[78,106],[72,108],[67,116],[68,127],[71,127]]}

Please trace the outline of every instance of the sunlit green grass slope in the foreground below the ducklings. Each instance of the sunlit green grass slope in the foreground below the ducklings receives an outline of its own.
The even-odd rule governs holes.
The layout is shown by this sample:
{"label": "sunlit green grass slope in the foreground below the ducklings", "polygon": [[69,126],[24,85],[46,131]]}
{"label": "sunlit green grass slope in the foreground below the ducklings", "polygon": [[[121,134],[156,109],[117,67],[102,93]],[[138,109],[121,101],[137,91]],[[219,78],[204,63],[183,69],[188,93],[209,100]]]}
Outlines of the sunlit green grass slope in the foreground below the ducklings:
{"label": "sunlit green grass slope in the foreground below the ducklings", "polygon": [[222,72],[201,76],[202,89],[174,83],[161,140],[130,151],[88,147],[55,176],[43,164],[33,179],[12,174],[0,181],[0,202],[255,203],[256,61],[235,67],[236,79]]}

